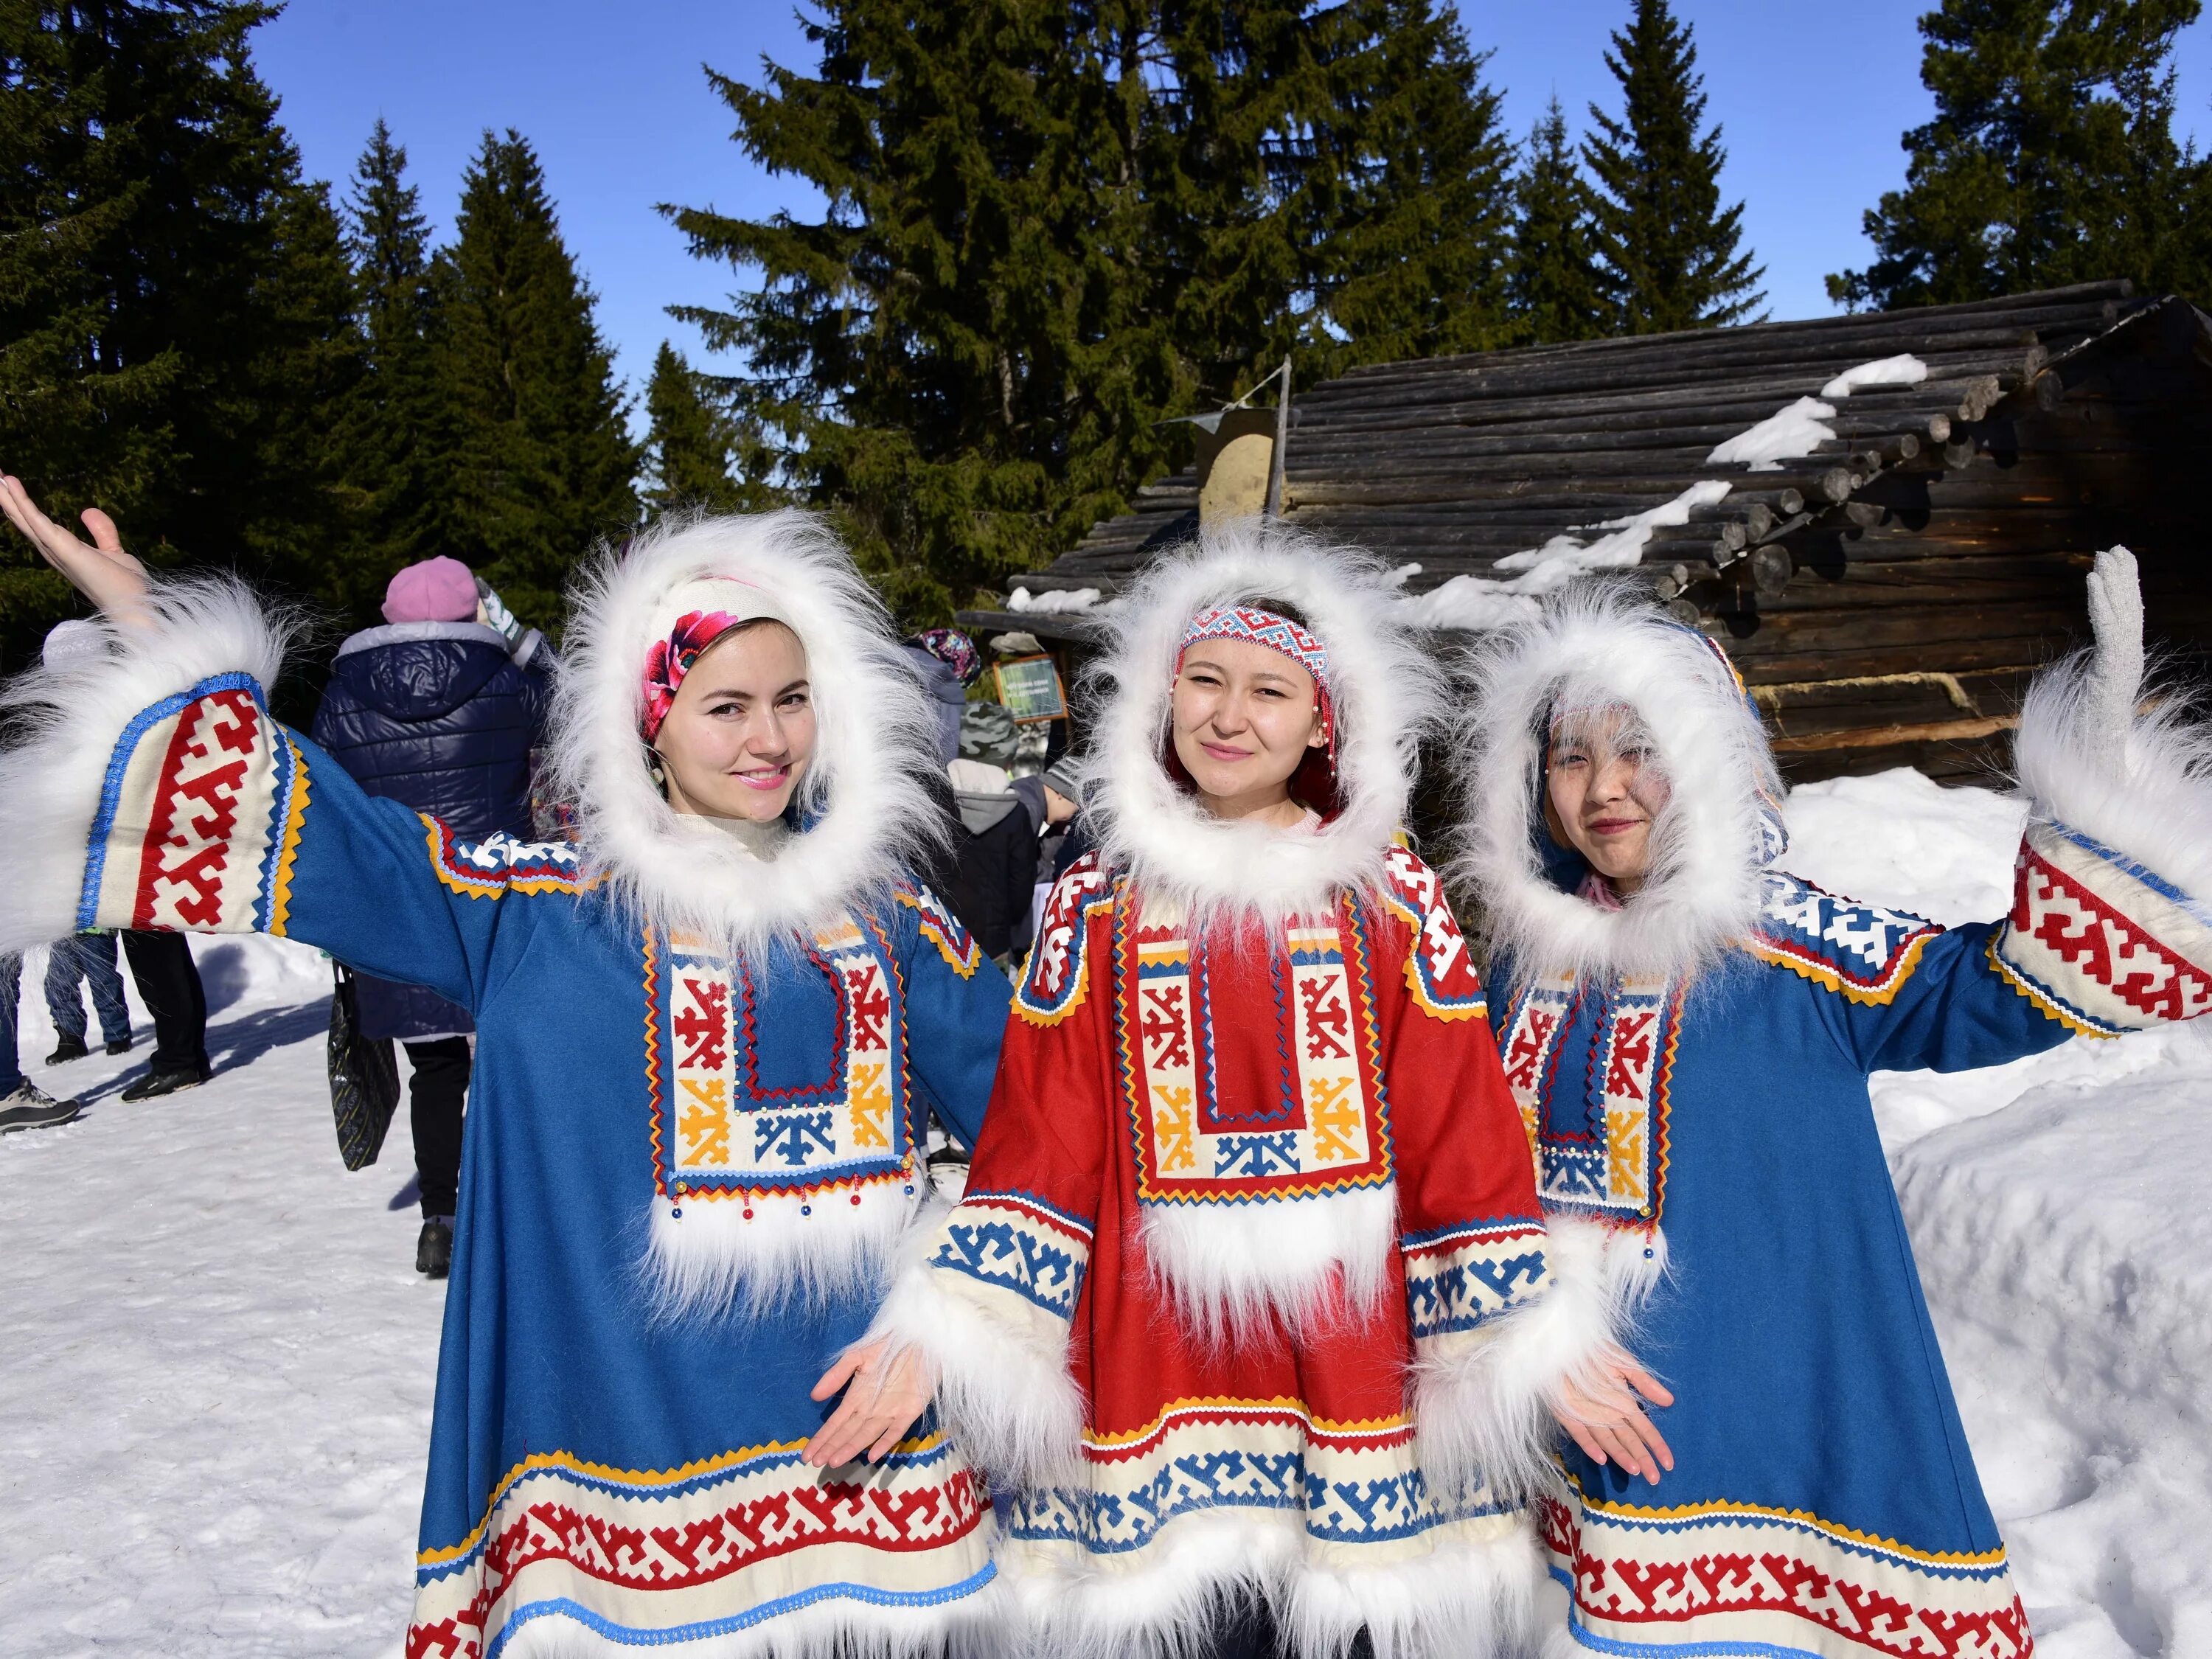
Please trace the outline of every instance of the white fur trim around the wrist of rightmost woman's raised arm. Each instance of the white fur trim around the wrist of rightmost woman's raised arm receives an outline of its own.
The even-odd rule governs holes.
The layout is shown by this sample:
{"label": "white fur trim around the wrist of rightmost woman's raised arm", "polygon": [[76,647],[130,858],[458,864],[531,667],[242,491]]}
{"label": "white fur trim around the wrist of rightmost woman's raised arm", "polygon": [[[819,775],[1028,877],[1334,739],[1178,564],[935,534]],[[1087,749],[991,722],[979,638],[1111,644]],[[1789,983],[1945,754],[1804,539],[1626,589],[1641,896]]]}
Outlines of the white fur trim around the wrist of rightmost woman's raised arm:
{"label": "white fur trim around the wrist of rightmost woman's raised arm", "polygon": [[2020,710],[2015,768],[2044,823],[2059,823],[2154,869],[2199,907],[2212,905],[2212,726],[2174,688],[2115,728],[2146,688],[2117,699],[2093,650],[2037,675]]}

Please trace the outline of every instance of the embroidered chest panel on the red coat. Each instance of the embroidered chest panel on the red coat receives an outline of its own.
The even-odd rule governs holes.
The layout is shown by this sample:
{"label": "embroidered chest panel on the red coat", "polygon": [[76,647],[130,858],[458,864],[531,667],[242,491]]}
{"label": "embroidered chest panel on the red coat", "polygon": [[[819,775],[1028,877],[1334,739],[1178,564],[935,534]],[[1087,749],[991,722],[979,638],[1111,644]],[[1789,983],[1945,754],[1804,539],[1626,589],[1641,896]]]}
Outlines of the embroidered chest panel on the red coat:
{"label": "embroidered chest panel on the red coat", "polygon": [[1115,902],[1115,1037],[1148,1203],[1383,1186],[1389,1108],[1369,940],[1352,907],[1283,938],[1192,942]]}

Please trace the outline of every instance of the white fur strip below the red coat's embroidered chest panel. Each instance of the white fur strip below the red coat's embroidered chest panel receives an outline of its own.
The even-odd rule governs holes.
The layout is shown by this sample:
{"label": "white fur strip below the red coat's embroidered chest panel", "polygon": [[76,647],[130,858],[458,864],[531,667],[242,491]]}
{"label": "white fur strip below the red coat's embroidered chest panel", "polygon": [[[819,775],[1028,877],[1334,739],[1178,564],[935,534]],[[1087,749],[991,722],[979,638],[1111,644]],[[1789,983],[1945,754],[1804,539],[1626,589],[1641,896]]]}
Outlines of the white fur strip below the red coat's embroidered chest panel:
{"label": "white fur strip below the red coat's embroidered chest panel", "polygon": [[1283,1321],[1340,1318],[1332,1294],[1369,1310],[1398,1250],[1398,1188],[1250,1203],[1146,1203],[1144,1254],[1186,1329],[1208,1345]]}

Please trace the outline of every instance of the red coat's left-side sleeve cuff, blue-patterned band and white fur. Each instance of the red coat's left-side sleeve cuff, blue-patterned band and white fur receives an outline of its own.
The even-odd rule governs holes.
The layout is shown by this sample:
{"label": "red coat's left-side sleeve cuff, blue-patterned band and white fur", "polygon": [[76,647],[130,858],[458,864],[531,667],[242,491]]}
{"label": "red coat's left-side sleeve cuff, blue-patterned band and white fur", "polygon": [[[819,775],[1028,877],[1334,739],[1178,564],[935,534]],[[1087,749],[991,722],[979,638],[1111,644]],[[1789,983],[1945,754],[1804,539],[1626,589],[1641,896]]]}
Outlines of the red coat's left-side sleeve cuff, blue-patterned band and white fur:
{"label": "red coat's left-side sleeve cuff, blue-patterned band and white fur", "polygon": [[863,1340],[929,1360],[945,1427],[973,1462],[1020,1484],[1064,1480],[1082,1458],[1068,1321],[1088,1265],[1082,1221],[1020,1192],[971,1192],[922,1234]]}

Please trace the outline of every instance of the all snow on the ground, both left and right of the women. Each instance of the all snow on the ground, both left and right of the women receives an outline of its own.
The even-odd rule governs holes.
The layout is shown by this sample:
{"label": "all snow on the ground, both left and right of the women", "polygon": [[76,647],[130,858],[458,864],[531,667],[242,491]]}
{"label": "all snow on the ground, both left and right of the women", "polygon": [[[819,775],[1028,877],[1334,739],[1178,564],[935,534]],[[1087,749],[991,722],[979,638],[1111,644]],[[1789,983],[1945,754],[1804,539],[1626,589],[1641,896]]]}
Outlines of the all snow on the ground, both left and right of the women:
{"label": "all snow on the ground, both left and right of the women", "polygon": [[[1909,772],[1801,790],[1790,865],[1960,922],[2008,902],[2017,807]],[[327,967],[199,945],[219,1077],[53,1073],[0,1139],[0,1655],[385,1659],[407,1617],[440,1290],[405,1113],[345,1175]],[[24,973],[24,1055],[51,1029]],[[1982,1480],[2048,1659],[2212,1655],[2212,1048],[2070,1044],[1878,1082]]]}

